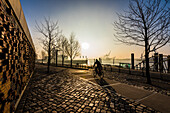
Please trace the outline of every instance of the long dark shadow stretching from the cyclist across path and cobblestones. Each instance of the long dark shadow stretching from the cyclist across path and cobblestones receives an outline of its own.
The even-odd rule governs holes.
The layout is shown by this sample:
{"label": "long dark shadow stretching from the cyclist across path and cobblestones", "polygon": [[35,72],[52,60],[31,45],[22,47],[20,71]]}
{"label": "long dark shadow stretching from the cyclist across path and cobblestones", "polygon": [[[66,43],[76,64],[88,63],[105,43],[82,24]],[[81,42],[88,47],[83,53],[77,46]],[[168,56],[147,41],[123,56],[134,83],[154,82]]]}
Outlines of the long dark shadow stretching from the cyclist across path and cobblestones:
{"label": "long dark shadow stretching from the cyclist across path and cobblestones", "polygon": [[[116,90],[112,86],[110,86],[110,84],[105,79],[95,79],[95,81],[103,88],[103,90],[107,94],[107,97],[109,97],[105,100],[105,103],[111,113],[115,113],[117,112],[117,110],[121,112],[123,109],[123,112],[136,112],[136,107],[140,104],[135,104],[135,108],[133,108],[133,106],[129,105],[133,104],[133,101],[118,94]],[[126,106],[126,108],[122,109],[120,105]]]}

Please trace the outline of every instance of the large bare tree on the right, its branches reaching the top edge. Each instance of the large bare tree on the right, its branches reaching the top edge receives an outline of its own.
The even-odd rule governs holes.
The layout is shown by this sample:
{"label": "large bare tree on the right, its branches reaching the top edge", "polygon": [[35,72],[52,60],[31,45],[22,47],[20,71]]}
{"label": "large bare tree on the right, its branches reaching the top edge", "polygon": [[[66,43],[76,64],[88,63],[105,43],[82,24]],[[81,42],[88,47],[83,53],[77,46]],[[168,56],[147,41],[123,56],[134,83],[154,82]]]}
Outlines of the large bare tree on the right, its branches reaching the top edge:
{"label": "large bare tree on the right, its branches reaching the top edge", "polygon": [[151,84],[149,53],[163,47],[170,41],[168,1],[130,0],[129,11],[118,14],[114,23],[117,41],[127,45],[145,48],[147,83]]}

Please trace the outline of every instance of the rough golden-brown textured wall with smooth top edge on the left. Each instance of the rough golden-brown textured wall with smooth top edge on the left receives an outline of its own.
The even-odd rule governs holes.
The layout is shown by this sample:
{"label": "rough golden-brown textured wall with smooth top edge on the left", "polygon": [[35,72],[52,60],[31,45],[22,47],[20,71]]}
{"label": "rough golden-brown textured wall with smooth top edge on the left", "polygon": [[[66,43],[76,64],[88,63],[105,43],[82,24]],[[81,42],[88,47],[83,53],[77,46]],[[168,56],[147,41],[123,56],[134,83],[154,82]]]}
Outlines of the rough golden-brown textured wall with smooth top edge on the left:
{"label": "rough golden-brown textured wall with smooth top edge on the left", "polygon": [[35,49],[19,0],[0,0],[0,113],[15,110],[34,71]]}

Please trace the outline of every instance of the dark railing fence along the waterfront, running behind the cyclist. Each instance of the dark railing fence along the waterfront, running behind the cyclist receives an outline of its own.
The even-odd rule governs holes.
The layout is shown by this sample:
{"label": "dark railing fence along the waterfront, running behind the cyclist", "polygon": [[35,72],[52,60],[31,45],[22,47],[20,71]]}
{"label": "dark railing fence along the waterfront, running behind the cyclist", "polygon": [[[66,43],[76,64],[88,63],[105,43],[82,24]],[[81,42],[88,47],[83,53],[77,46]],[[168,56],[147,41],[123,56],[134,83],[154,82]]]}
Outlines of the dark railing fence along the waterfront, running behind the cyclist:
{"label": "dark railing fence along the waterfront, running behind the cyclist", "polygon": [[[149,61],[150,61],[149,64],[150,64],[150,74],[151,74],[150,76],[152,78],[170,81],[170,56],[169,55],[155,54],[154,56],[149,58]],[[131,64],[120,62],[119,65],[103,64],[102,66],[106,71],[146,76],[145,64],[146,62],[143,60],[142,62],[134,66],[134,54],[132,54]],[[55,66],[56,64],[53,65]],[[57,66],[71,67],[70,64],[64,64],[64,65],[57,64]],[[74,64],[72,68],[91,69],[93,68],[93,65],[89,66],[83,64]]]}

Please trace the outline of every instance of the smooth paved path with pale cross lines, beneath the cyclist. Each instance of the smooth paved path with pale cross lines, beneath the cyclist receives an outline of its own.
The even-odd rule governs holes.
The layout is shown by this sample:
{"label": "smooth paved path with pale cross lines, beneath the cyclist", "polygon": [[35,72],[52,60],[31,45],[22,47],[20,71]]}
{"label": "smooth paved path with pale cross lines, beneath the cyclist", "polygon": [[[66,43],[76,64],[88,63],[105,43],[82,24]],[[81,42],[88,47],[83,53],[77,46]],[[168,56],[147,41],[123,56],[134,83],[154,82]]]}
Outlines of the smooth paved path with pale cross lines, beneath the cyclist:
{"label": "smooth paved path with pale cross lines, beneath the cyclist", "polygon": [[72,73],[93,83],[96,83],[102,86],[103,88],[112,88],[118,94],[121,94],[126,98],[132,99],[137,103],[141,103],[145,106],[151,107],[163,113],[170,113],[169,96],[162,95],[156,92],[151,92],[140,87],[120,83],[118,81],[110,80],[108,78],[99,80],[98,78],[94,78],[90,71],[72,70]]}

